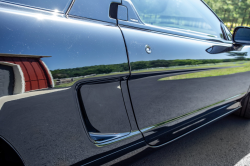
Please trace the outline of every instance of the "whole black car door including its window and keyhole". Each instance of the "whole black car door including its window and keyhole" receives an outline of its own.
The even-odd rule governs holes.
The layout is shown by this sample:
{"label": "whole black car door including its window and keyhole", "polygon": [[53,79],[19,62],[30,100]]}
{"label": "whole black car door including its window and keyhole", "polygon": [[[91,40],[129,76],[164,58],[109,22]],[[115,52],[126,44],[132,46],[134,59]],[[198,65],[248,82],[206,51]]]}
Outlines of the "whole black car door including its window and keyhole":
{"label": "whole black car door including its window and keyhole", "polygon": [[118,8],[130,60],[137,124],[152,146],[240,108],[250,72],[222,21],[198,0],[123,0]]}

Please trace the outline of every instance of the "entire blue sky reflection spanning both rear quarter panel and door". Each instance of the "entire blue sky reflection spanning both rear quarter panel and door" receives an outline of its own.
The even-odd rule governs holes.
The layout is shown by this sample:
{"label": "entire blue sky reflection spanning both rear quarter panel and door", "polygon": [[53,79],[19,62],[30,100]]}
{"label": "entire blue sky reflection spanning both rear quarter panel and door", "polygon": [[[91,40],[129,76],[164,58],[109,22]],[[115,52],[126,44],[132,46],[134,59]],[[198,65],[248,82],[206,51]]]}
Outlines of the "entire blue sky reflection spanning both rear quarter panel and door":
{"label": "entire blue sky reflection spanning both rear quarter panel and door", "polygon": [[[0,52],[44,55],[50,70],[127,62],[124,41],[114,26],[0,12]],[[212,43],[124,29],[131,62],[157,59],[228,59],[226,54],[205,52]],[[158,36],[157,36],[158,35]],[[152,48],[147,54],[145,45]]]}

